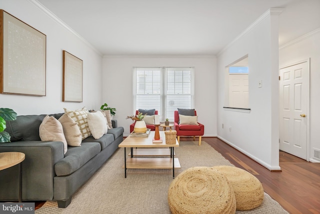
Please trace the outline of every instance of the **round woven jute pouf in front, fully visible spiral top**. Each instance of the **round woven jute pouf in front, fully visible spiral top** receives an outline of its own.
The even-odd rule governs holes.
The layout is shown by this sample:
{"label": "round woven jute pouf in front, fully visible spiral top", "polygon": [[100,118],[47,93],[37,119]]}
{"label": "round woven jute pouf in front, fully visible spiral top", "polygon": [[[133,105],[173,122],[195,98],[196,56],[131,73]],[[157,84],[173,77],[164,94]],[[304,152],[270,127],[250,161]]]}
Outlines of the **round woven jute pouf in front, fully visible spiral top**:
{"label": "round woven jute pouf in front, fully visible spiral top", "polygon": [[226,177],[204,166],[185,169],[172,180],[168,203],[172,213],[235,213],[235,197]]}

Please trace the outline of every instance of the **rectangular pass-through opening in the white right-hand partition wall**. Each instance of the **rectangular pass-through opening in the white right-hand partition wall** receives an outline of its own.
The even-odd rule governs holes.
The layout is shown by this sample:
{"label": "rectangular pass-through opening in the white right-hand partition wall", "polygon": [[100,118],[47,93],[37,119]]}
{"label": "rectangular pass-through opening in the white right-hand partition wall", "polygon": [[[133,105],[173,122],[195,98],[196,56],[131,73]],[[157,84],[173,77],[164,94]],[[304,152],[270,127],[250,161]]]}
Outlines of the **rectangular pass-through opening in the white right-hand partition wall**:
{"label": "rectangular pass-through opening in the white right-hand partition wall", "polygon": [[226,66],[225,106],[231,108],[248,108],[248,57],[247,55]]}

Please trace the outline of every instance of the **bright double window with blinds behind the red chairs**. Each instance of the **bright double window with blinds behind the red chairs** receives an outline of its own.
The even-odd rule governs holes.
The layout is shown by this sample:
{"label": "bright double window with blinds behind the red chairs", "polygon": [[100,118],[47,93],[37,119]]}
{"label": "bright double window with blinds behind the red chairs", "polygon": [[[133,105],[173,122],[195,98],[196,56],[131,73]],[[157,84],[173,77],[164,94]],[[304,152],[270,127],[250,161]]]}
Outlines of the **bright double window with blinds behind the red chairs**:
{"label": "bright double window with blinds behind the red chairs", "polygon": [[193,108],[193,68],[134,68],[133,111],[158,110],[160,120],[173,121],[177,108]]}

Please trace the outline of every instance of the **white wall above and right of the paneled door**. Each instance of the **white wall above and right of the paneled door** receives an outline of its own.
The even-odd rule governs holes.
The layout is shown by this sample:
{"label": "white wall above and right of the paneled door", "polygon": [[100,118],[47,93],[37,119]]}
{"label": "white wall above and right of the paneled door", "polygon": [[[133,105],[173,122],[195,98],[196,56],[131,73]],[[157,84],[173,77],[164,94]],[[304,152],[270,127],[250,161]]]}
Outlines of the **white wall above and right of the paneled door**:
{"label": "white wall above and right of the paneled door", "polygon": [[313,159],[313,150],[320,150],[320,28],[279,48],[279,68],[310,58],[310,120],[309,125],[309,161]]}

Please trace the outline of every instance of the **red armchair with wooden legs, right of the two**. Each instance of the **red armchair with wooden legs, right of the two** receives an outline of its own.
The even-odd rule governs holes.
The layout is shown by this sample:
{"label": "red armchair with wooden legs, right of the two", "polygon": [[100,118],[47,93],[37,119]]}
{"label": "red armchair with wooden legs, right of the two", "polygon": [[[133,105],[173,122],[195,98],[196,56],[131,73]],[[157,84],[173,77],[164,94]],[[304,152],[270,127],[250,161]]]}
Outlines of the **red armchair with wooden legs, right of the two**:
{"label": "red armchair with wooden legs, right of the two", "polygon": [[[196,111],[194,110],[194,115]],[[179,124],[179,113],[177,110],[174,111],[174,128],[176,130],[176,136],[178,142],[180,142],[180,136],[199,136],[199,145],[201,145],[201,136],[204,134],[204,125],[198,122],[198,125],[191,124]]]}

